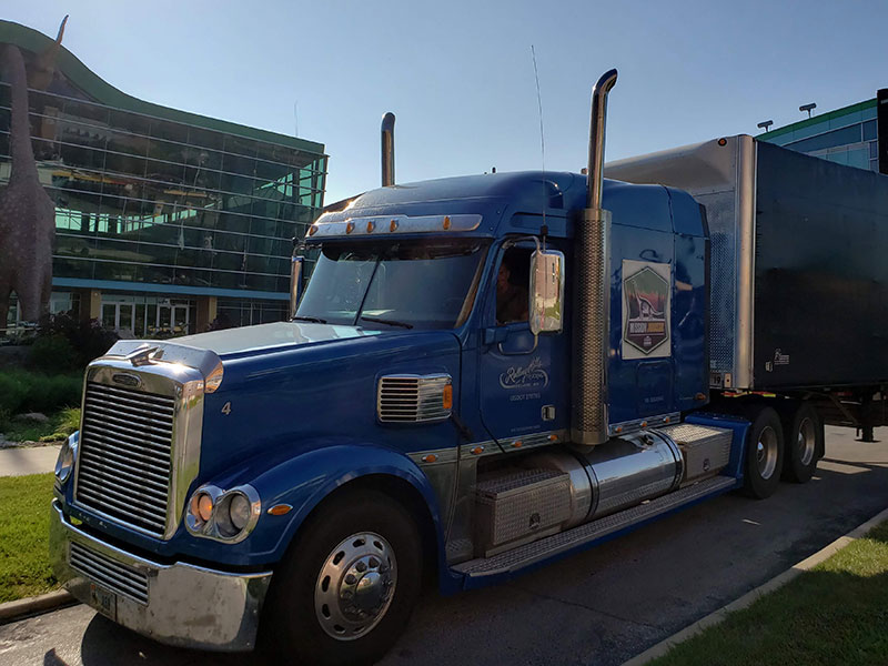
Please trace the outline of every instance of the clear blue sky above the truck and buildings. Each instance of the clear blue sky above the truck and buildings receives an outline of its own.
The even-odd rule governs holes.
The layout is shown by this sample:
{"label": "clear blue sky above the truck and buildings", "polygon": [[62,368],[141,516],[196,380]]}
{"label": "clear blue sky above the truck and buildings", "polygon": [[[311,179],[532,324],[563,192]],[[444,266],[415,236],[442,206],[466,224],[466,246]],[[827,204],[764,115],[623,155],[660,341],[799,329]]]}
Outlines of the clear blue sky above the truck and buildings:
{"label": "clear blue sky above the truck and buildings", "polygon": [[612,68],[607,159],[758,133],[888,87],[888,2],[7,0],[138,98],[326,145],[326,202],[380,183],[380,119],[397,115],[396,176],[585,165],[588,98]]}

